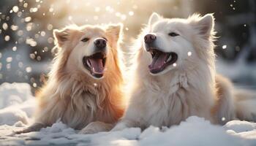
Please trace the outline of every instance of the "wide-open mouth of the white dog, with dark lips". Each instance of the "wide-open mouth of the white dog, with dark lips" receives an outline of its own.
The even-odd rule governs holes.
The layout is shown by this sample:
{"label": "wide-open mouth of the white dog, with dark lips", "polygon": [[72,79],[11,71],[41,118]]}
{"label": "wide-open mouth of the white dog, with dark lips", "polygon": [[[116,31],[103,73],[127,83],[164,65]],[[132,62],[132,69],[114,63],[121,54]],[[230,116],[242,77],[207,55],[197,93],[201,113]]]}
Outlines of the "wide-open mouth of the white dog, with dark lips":
{"label": "wide-open mouth of the white dog, with dark lips", "polygon": [[148,51],[151,53],[153,59],[152,63],[148,66],[152,74],[162,72],[167,66],[174,64],[178,59],[178,55],[173,52],[165,53],[156,49]]}

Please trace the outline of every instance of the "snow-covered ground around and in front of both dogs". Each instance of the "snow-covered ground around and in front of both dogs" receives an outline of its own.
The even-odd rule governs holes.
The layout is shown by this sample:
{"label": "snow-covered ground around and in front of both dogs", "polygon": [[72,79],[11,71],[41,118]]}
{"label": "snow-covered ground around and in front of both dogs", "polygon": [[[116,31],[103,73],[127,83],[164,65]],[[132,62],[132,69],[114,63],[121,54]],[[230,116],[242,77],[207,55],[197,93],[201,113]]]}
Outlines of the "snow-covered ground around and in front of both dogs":
{"label": "snow-covered ground around and in front of both dogs", "polygon": [[26,83],[0,85],[0,145],[256,145],[256,123],[233,120],[215,126],[192,116],[170,128],[127,128],[99,134],[78,134],[61,121],[41,131],[12,134],[33,121],[36,102]]}

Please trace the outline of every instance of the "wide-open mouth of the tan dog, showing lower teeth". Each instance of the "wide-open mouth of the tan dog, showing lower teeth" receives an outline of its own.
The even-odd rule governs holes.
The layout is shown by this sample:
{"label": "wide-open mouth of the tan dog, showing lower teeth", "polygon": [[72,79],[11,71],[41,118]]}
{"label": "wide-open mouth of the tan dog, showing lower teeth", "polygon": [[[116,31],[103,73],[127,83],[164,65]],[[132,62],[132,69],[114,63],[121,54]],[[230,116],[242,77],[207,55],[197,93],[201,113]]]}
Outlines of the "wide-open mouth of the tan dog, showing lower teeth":
{"label": "wide-open mouth of the tan dog, showing lower teeth", "polygon": [[91,72],[91,75],[100,78],[104,74],[106,54],[99,52],[83,57],[83,66]]}

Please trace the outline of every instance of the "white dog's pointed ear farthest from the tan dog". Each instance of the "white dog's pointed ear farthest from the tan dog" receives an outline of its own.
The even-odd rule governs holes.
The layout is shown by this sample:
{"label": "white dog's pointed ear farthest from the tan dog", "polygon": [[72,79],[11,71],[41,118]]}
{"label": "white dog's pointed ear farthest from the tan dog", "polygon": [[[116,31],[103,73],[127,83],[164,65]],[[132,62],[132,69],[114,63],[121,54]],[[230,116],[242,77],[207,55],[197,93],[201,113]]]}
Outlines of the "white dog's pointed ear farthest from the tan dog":
{"label": "white dog's pointed ear farthest from the tan dog", "polygon": [[[197,15],[198,16],[198,15]],[[193,17],[193,16],[192,16]],[[196,18],[195,27],[199,31],[199,34],[203,36],[204,39],[209,39],[214,33],[214,15],[206,14],[203,17]]]}

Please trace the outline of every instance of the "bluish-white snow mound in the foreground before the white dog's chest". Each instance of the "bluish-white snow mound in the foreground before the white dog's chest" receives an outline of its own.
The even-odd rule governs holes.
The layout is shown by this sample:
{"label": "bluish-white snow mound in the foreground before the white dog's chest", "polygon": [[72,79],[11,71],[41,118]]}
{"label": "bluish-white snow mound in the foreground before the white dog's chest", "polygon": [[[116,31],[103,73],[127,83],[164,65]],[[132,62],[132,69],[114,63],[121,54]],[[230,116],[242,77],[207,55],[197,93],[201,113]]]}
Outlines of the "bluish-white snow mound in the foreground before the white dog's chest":
{"label": "bluish-white snow mound in the foreground before the white dog's chest", "polygon": [[211,125],[208,120],[195,116],[165,132],[149,127],[140,138],[143,145],[158,145],[158,142],[161,145],[242,145],[240,137],[227,134],[222,126]]}

